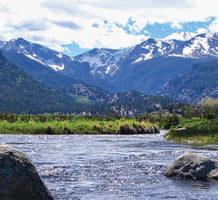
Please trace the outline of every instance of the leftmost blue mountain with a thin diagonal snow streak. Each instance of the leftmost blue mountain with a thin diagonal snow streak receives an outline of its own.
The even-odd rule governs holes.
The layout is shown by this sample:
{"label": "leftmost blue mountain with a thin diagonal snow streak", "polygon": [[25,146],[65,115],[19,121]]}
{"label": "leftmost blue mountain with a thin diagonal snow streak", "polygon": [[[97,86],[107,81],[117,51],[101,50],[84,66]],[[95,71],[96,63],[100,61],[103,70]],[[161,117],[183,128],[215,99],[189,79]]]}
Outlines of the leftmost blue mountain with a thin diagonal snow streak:
{"label": "leftmost blue mountain with a thin diagonal snow streak", "polygon": [[[59,66],[61,58],[66,60],[65,62],[70,62],[70,58],[61,53],[47,49],[39,44],[28,42],[22,38],[1,42],[0,49],[8,60],[23,68],[46,85],[62,88],[74,83],[81,83],[79,80],[74,80],[56,72],[57,68],[61,69],[61,66]],[[53,59],[55,60],[53,61]]]}

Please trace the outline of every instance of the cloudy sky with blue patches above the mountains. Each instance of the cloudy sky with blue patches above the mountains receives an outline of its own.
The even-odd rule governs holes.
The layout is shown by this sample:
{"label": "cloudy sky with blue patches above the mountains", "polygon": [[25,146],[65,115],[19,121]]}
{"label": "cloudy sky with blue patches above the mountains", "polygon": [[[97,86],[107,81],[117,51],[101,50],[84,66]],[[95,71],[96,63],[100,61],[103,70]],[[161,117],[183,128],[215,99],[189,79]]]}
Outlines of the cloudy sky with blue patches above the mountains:
{"label": "cloudy sky with blue patches above the mountains", "polygon": [[25,38],[70,56],[182,31],[217,32],[215,0],[4,0],[0,40]]}

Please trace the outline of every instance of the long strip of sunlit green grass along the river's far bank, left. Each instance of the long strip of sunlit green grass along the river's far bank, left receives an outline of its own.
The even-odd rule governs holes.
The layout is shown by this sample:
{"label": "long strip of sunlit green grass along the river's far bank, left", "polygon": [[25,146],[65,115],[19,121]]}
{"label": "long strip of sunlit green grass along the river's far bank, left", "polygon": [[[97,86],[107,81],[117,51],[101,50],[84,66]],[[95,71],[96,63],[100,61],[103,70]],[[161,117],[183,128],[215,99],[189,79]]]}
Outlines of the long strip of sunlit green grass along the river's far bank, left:
{"label": "long strip of sunlit green grass along the river's far bank, left", "polygon": [[[45,120],[40,122],[34,117],[29,121],[6,120],[0,122],[0,133],[10,134],[132,134],[124,133],[120,128],[126,126],[131,130],[135,129],[135,134],[142,133],[141,127],[146,133],[158,132],[158,127],[149,122],[137,122],[134,118],[104,119],[104,118],[83,118],[75,117],[71,120]],[[140,129],[141,130],[141,129]],[[145,132],[144,132],[145,133]]]}

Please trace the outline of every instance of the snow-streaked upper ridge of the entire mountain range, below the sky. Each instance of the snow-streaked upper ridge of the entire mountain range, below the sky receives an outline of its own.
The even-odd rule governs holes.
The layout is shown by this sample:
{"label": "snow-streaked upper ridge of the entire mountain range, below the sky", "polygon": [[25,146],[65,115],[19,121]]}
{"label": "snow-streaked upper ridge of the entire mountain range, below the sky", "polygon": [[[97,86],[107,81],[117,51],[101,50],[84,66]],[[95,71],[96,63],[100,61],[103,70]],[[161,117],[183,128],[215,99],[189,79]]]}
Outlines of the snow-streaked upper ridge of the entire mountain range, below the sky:
{"label": "snow-streaked upper ridge of the entire mountain range, below the sky", "polygon": [[0,49],[21,53],[55,71],[73,74],[86,69],[91,76],[110,79],[116,75],[121,65],[138,65],[161,56],[218,58],[218,34],[177,32],[164,39],[148,38],[141,44],[124,49],[95,48],[73,58],[22,38],[0,42]]}

